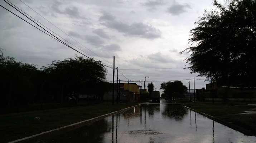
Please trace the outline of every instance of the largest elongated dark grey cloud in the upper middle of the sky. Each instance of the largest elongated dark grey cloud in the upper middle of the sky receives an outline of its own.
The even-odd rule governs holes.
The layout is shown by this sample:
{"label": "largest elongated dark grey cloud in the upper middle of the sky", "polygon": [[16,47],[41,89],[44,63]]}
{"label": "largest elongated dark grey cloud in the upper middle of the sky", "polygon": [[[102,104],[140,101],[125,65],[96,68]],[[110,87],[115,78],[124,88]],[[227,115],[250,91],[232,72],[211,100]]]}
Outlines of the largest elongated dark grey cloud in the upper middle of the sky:
{"label": "largest elongated dark grey cloud in the upper middle of the sky", "polygon": [[100,17],[100,21],[102,21],[102,25],[124,33],[125,36],[142,37],[147,39],[161,37],[160,30],[151,25],[146,25],[142,22],[136,22],[129,25],[122,21],[117,21],[114,16],[106,12],[104,12]]}

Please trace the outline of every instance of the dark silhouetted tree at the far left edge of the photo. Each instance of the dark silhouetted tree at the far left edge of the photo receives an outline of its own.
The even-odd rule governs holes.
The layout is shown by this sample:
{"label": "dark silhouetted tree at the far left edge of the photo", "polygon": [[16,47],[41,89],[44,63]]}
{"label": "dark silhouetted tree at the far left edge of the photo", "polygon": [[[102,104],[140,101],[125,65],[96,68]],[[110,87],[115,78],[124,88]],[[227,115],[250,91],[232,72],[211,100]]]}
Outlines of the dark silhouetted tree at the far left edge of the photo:
{"label": "dark silhouetted tree at the far left edge of the photo", "polygon": [[35,79],[38,72],[33,64],[18,62],[13,57],[4,57],[0,49],[0,106],[12,107],[32,102],[37,88]]}

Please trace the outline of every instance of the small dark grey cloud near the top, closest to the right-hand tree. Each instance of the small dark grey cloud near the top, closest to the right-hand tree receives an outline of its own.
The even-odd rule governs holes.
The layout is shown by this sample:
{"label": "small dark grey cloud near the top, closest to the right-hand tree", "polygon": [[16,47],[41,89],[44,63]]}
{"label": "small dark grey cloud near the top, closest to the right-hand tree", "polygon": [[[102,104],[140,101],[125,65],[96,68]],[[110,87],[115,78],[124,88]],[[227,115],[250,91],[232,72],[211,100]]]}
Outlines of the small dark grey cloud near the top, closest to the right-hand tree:
{"label": "small dark grey cloud near the top, closest to the right-hand tree", "polygon": [[172,6],[168,8],[168,12],[172,15],[180,15],[186,12],[186,9],[191,9],[189,4],[178,4],[175,2]]}

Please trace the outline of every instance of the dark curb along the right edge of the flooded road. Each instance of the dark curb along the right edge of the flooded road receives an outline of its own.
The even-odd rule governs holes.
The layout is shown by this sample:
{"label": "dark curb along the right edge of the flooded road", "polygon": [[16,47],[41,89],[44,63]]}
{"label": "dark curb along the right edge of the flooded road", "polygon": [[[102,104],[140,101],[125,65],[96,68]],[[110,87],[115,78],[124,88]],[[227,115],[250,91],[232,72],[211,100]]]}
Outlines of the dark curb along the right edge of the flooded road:
{"label": "dark curb along the right edge of the flooded road", "polygon": [[[183,105],[183,106],[184,106],[184,105]],[[239,127],[235,127],[235,126],[232,125],[231,123],[222,121],[222,120],[220,120],[219,118],[216,118],[216,117],[214,117],[214,116],[208,115],[208,114],[203,113],[203,112],[199,112],[199,111],[194,110],[194,109],[192,109],[192,108],[189,108],[189,107],[187,107],[187,106],[184,106],[184,107],[186,107],[186,108],[188,108],[188,109],[190,109],[190,110],[192,110],[192,111],[194,111],[194,112],[197,112],[197,113],[199,113],[199,114],[201,114],[201,115],[203,115],[203,116],[206,116],[206,117],[212,119],[213,121],[218,122],[218,123],[220,123],[220,124],[222,124],[222,125],[224,125],[224,126],[230,127],[230,128],[232,128],[232,129],[234,129],[234,130],[236,130],[236,131],[238,131],[238,132],[241,132],[241,133],[245,134],[246,136],[255,136],[255,135],[251,134],[249,131],[247,131],[247,130],[245,130],[245,129],[242,129],[242,128],[239,128]]]}

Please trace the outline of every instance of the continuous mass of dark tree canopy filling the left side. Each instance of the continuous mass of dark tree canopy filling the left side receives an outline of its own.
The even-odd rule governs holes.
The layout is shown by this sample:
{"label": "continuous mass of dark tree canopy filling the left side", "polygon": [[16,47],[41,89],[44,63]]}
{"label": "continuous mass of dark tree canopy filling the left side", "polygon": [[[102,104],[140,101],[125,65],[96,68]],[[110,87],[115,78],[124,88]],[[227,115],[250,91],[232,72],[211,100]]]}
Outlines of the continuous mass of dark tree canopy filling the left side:
{"label": "continuous mass of dark tree canopy filling the left side", "polygon": [[111,89],[104,81],[106,72],[100,61],[83,57],[53,61],[39,70],[33,64],[5,57],[0,49],[0,107],[67,102],[68,96],[79,94],[102,99],[104,92]]}

